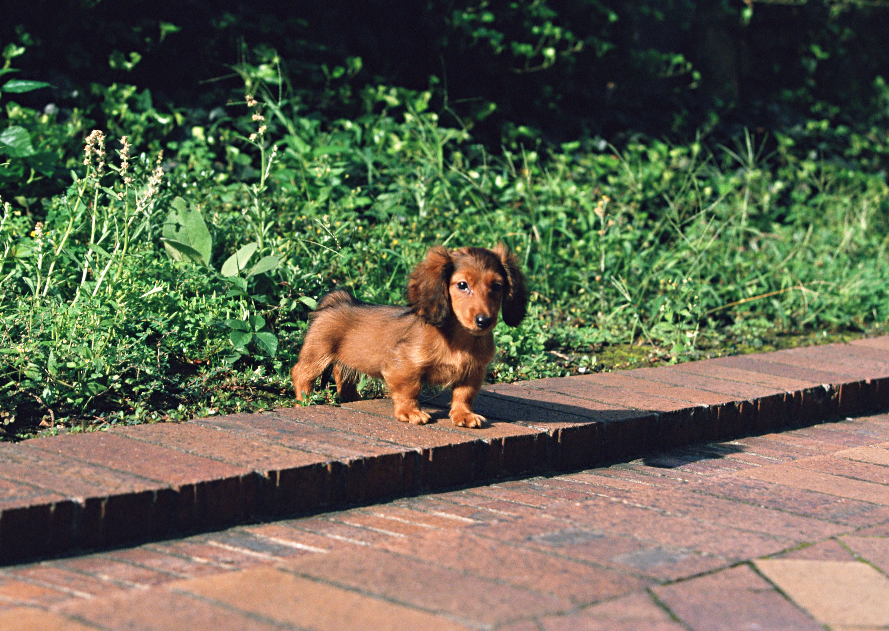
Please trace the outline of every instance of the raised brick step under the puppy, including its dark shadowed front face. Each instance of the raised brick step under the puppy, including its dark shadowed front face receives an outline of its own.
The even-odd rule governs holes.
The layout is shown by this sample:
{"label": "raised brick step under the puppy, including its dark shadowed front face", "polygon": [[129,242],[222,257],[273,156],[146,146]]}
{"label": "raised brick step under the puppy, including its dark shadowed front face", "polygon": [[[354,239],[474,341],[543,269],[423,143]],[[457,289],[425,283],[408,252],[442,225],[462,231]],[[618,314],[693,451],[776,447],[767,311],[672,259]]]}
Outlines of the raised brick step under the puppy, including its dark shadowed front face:
{"label": "raised brick step under the puppy, including its dark shadowed front face", "polygon": [[503,476],[596,467],[889,409],[889,336],[486,387],[490,427],[388,400],[0,444],[0,563],[131,545]]}

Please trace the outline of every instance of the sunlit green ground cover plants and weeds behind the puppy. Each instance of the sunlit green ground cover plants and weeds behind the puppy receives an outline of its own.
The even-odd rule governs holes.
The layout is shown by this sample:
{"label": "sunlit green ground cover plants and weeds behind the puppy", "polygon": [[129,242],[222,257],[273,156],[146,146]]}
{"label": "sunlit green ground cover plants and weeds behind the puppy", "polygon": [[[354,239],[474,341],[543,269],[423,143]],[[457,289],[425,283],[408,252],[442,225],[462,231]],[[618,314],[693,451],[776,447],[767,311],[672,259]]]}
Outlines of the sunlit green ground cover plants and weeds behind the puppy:
{"label": "sunlit green ground cover plants and weeds behind the puppy", "polygon": [[202,113],[115,84],[97,87],[105,116],[62,118],[20,105],[40,82],[0,76],[6,438],[292,405],[316,300],[403,302],[432,244],[503,242],[528,272],[492,380],[885,331],[885,117],[492,148],[435,84],[344,92],[352,63],[328,70],[324,108],[256,50]]}

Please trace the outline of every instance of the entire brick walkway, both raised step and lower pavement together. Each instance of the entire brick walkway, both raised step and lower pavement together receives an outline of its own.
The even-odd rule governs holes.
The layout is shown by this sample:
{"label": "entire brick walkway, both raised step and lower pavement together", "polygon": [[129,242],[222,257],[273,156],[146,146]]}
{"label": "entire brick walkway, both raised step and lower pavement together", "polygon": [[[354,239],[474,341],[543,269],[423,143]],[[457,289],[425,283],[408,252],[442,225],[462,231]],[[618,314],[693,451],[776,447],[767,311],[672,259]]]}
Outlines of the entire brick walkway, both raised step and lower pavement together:
{"label": "entire brick walkway, both raised step and lower pavement together", "polygon": [[382,405],[0,445],[0,629],[889,628],[889,338]]}

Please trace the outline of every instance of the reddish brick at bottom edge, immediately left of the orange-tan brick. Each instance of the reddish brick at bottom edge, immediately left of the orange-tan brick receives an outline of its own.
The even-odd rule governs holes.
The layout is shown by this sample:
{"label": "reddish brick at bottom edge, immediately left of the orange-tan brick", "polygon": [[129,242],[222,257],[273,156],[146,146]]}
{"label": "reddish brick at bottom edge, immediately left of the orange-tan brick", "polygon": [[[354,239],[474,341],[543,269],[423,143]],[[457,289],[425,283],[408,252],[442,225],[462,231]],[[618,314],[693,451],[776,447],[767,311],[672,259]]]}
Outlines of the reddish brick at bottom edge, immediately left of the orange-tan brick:
{"label": "reddish brick at bottom edge, immediately left of the orange-tan brick", "polygon": [[124,631],[169,631],[170,629],[212,629],[212,631],[280,631],[274,623],[166,589],[151,589],[114,598],[103,598],[64,606],[64,613],[100,628]]}

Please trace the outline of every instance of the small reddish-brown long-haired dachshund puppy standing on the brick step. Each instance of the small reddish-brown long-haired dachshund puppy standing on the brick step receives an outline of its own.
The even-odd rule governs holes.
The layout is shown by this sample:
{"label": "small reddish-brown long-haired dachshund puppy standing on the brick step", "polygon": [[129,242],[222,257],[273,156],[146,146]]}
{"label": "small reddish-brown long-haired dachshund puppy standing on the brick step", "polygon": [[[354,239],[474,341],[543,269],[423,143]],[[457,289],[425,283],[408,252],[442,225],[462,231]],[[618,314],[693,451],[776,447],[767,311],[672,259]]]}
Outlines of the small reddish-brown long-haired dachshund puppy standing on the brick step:
{"label": "small reddish-brown long-haired dachshund puppy standing on the brick step", "polygon": [[454,425],[482,427],[472,402],[494,357],[493,327],[525,317],[525,277],[506,246],[431,248],[411,273],[408,307],[369,305],[343,290],[324,296],[290,375],[298,401],[333,365],[342,401],[355,401],[357,373],[384,379],[398,420],[430,419],[418,402],[422,383],[453,388]]}

